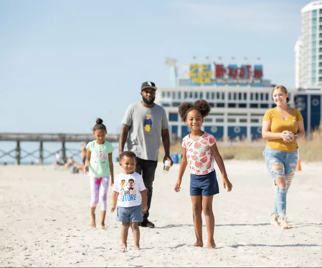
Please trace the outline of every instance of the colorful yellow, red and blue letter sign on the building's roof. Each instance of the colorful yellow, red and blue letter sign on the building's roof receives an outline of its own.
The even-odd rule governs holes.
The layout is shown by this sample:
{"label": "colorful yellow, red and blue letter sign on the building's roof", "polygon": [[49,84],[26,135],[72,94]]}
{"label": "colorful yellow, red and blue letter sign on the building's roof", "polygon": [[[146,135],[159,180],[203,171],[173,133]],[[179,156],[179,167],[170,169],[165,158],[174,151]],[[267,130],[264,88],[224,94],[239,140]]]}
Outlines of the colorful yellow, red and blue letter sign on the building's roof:
{"label": "colorful yellow, red and blue letter sign on the building's roof", "polygon": [[[214,73],[214,75],[213,75]],[[189,84],[191,86],[262,86],[263,70],[261,64],[251,65],[242,64],[238,67],[236,64],[214,63],[214,72],[211,64],[190,64],[189,65]]]}

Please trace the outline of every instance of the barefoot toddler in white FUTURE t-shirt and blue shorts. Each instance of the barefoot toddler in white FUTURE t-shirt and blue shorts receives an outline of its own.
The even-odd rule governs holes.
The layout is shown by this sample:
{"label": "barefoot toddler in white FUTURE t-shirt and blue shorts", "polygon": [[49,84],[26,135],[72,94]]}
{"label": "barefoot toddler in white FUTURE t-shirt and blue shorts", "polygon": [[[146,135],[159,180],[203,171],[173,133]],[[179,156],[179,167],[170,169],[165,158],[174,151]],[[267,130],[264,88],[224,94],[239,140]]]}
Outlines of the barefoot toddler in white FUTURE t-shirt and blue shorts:
{"label": "barefoot toddler in white FUTURE t-shirt and blue shorts", "polygon": [[[142,222],[142,211],[147,211],[147,196],[142,176],[134,172],[136,155],[127,151],[120,154],[120,166],[123,172],[116,176],[113,186],[111,212],[118,202],[117,221],[122,222],[122,249],[127,249],[127,235],[131,226],[134,237],[134,249],[140,249],[139,222]],[[142,205],[141,205],[142,203]]]}

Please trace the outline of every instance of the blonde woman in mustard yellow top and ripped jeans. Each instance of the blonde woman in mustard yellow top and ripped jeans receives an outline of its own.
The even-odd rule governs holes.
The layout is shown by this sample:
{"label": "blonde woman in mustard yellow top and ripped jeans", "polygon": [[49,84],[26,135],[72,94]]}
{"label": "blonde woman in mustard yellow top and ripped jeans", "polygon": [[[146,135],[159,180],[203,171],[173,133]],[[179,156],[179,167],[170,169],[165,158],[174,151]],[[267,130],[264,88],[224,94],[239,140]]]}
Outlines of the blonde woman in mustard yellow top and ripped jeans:
{"label": "blonde woman in mustard yellow top and ripped jeans", "polygon": [[274,87],[273,99],[277,106],[266,111],[262,119],[262,137],[268,139],[264,151],[265,162],[276,185],[271,224],[290,229],[286,221],[286,193],[298,162],[296,141],[304,138],[305,131],[300,111],[287,105],[287,89],[283,86]]}

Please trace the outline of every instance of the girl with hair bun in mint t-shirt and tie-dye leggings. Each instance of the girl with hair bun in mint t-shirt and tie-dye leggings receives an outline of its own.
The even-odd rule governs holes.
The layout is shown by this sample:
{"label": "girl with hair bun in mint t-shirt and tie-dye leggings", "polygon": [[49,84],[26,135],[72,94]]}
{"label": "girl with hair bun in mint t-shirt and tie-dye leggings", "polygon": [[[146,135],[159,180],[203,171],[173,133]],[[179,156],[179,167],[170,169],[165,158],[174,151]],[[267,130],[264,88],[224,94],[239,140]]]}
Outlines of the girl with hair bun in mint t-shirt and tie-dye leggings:
{"label": "girl with hair bun in mint t-shirt and tie-dye leggings", "polygon": [[98,118],[96,125],[93,128],[93,135],[96,140],[89,142],[86,145],[87,155],[84,166],[84,172],[89,173],[89,183],[91,188],[91,227],[96,227],[95,209],[101,201],[101,229],[105,229],[106,215],[106,195],[108,185],[114,184],[114,168],[112,160],[112,152],[114,150],[111,143],[105,141],[106,127],[103,125],[103,120]]}

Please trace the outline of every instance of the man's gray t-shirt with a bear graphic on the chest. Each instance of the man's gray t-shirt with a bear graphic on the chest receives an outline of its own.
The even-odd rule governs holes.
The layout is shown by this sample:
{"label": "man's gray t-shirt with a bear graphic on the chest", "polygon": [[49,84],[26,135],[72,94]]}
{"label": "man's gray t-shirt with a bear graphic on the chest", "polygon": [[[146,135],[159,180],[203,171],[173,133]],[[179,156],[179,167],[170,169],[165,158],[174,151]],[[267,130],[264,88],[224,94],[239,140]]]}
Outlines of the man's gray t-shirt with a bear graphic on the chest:
{"label": "man's gray t-shirt with a bear graphic on the chest", "polygon": [[161,130],[168,129],[163,107],[154,104],[146,108],[141,102],[133,103],[127,108],[122,124],[130,126],[127,149],[141,159],[158,161]]}

